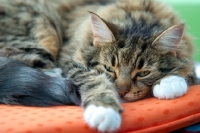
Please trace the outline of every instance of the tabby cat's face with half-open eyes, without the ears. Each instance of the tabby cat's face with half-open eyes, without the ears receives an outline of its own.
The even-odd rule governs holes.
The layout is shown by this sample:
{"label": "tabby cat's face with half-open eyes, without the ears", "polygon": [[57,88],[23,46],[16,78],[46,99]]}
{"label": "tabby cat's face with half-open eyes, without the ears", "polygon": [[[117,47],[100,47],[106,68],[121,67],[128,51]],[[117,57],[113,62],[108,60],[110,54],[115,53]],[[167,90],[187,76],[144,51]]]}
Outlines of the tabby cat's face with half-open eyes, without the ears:
{"label": "tabby cat's face with half-open eyes, without the ears", "polygon": [[126,101],[135,101],[152,94],[152,85],[172,71],[176,66],[173,56],[161,55],[150,44],[130,42],[119,48],[119,44],[102,47],[98,66],[110,75],[119,95]]}

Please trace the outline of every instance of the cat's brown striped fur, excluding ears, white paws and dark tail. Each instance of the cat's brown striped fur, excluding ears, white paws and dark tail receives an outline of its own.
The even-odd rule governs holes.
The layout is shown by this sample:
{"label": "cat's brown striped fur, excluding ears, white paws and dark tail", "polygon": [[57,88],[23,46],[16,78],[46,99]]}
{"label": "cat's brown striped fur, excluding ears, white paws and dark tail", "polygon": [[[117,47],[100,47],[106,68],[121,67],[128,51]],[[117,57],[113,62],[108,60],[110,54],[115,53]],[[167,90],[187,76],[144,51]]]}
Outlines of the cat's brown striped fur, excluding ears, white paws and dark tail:
{"label": "cat's brown striped fur, excluding ears, white paws and dark tail", "polygon": [[[80,86],[84,107],[95,104],[121,112],[118,92],[125,100],[135,101],[149,96],[152,86],[169,75],[195,83],[187,32],[173,52],[163,52],[153,43],[168,28],[183,23],[165,4],[153,0],[0,3],[1,50],[17,48],[14,55],[5,51],[0,55],[31,66],[40,61],[43,68],[61,67]],[[89,11],[102,19],[115,41],[94,46]],[[138,76],[144,71],[150,74]]]}

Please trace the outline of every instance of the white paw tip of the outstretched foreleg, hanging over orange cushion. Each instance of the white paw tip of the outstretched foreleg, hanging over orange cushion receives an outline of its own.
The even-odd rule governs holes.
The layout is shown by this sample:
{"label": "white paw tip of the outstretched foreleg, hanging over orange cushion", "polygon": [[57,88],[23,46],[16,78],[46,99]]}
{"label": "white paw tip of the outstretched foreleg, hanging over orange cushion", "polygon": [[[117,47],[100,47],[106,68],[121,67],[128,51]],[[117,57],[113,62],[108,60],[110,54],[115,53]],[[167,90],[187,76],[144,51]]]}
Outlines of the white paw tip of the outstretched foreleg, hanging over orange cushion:
{"label": "white paw tip of the outstretched foreleg, hanging over orange cushion", "polygon": [[121,125],[121,116],[112,108],[89,105],[84,112],[85,121],[100,132],[114,132]]}

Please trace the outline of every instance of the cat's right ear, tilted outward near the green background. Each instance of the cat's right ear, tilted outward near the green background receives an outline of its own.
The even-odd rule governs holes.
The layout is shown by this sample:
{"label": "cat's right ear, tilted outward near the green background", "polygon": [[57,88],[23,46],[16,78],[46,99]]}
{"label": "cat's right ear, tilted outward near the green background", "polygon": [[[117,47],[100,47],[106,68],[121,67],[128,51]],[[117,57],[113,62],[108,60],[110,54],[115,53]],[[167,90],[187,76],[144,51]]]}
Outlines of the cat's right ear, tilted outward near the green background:
{"label": "cat's right ear, tilted outward near the green background", "polygon": [[162,53],[176,55],[176,49],[179,47],[183,35],[184,24],[175,25],[160,34],[152,45]]}

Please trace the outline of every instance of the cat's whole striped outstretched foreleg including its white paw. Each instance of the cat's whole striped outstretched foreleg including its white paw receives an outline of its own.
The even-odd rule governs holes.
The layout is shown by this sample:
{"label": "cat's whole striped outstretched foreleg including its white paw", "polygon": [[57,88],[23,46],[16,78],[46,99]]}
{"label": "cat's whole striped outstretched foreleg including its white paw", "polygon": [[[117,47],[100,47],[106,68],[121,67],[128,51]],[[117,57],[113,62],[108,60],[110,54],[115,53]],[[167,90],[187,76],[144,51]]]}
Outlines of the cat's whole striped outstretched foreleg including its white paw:
{"label": "cat's whole striped outstretched foreleg including its white paw", "polygon": [[121,125],[122,108],[115,86],[106,76],[83,65],[68,61],[63,68],[80,87],[85,121],[101,132],[114,132]]}

